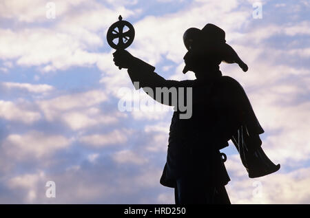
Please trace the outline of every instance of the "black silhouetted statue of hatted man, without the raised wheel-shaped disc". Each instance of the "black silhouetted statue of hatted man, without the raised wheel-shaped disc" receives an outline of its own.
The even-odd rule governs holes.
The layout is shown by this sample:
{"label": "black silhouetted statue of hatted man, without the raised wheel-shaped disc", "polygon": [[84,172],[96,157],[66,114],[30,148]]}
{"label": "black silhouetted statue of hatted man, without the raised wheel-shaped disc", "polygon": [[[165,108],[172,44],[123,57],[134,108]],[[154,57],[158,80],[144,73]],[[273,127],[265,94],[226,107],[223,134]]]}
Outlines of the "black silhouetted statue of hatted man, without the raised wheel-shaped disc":
{"label": "black silhouetted statue of hatted man, without the raised wheel-shaped disc", "polygon": [[[222,61],[237,63],[244,72],[248,69],[227,45],[225,32],[208,23],[202,30],[186,30],[183,41],[188,50],[183,73],[194,72],[196,80],[165,80],[154,72],[155,67],[123,48],[114,52],[113,60],[120,69],[127,68],[133,83],[139,82],[136,89],[149,87],[155,94],[156,87],[192,88],[192,117],[189,119],[180,119],[177,103],[180,98],[168,102],[159,100],[175,107],[167,162],[160,182],[174,188],[176,204],[230,204],[225,190],[230,181],[224,165],[226,155],[220,153],[229,140],[236,146],[251,178],[276,172],[280,164],[273,164],[262,151],[259,135],[264,130],[244,89],[220,72]],[[187,98],[186,94],[183,96]],[[159,99],[156,94],[152,98]]]}

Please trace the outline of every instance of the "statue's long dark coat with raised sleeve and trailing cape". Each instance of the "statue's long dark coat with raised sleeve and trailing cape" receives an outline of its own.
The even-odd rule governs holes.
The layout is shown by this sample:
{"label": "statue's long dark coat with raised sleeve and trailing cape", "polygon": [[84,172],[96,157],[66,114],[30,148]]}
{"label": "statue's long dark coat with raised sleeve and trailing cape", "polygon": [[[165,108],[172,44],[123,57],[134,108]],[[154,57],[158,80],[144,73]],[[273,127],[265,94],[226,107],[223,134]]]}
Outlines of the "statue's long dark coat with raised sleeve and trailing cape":
{"label": "statue's long dark coat with raised sleeve and trailing cape", "polygon": [[136,89],[153,89],[155,100],[158,100],[156,87],[177,90],[184,87],[183,102],[187,102],[187,90],[192,90],[192,117],[189,119],[180,118],[179,93],[177,100],[158,100],[175,109],[169,130],[167,162],[160,180],[163,186],[175,188],[176,179],[184,176],[207,181],[210,186],[226,185],[230,178],[219,150],[228,146],[229,140],[236,146],[249,177],[278,171],[280,164],[273,164],[261,148],[259,135],[264,130],[236,80],[222,76],[219,70],[206,72],[214,75],[208,80],[165,80],[154,69],[135,58],[127,72],[132,83],[138,82]]}

